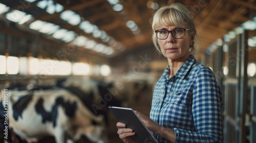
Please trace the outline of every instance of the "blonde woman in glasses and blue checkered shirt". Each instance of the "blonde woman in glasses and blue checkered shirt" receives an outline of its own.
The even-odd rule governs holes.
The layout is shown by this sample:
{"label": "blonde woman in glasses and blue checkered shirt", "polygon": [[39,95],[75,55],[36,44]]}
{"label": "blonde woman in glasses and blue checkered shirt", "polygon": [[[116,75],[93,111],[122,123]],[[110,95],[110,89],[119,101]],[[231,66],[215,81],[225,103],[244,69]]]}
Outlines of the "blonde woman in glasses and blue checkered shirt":
{"label": "blonde woman in glasses and blue checkered shirt", "polygon": [[[222,142],[222,94],[212,71],[191,54],[198,41],[194,19],[182,4],[160,8],[153,42],[168,61],[156,84],[150,118],[136,111],[159,142]],[[119,137],[134,142],[117,123]]]}

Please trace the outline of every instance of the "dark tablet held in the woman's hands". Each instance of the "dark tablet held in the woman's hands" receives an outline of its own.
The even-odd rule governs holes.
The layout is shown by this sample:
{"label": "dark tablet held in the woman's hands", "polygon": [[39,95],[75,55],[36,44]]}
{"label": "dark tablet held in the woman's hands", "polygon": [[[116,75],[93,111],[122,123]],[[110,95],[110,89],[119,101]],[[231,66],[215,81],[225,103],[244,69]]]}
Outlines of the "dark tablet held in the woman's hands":
{"label": "dark tablet held in the woman's hands", "polygon": [[109,106],[109,109],[115,115],[118,122],[125,124],[126,128],[133,129],[135,135],[131,136],[131,138],[134,141],[158,143],[132,108]]}

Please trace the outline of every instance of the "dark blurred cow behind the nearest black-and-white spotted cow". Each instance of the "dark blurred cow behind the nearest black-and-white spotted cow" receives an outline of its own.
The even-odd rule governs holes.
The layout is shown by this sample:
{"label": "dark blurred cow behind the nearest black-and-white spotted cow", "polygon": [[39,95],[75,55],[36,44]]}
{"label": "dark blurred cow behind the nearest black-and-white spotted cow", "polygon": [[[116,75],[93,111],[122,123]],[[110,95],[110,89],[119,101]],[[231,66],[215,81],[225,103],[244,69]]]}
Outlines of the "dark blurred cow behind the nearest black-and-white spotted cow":
{"label": "dark blurred cow behind the nearest black-and-white spotted cow", "polygon": [[95,114],[109,111],[109,106],[126,106],[125,99],[118,97],[118,90],[113,83],[95,79],[68,78],[57,81],[56,86],[75,93]]}

